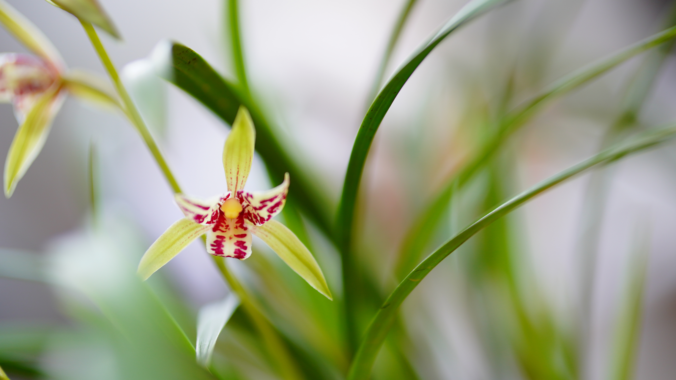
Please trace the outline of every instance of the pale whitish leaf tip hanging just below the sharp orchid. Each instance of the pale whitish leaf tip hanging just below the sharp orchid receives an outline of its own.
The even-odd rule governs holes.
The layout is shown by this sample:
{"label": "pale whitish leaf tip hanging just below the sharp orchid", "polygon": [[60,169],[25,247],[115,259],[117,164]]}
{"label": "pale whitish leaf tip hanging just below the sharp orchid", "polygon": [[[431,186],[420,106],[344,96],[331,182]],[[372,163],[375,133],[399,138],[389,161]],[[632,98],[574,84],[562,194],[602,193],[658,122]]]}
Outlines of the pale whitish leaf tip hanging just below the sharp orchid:
{"label": "pale whitish leaf tip hanging just below the sharp orchid", "polygon": [[214,346],[220,331],[239,306],[239,298],[230,293],[220,301],[212,302],[199,309],[197,316],[197,362],[209,367]]}

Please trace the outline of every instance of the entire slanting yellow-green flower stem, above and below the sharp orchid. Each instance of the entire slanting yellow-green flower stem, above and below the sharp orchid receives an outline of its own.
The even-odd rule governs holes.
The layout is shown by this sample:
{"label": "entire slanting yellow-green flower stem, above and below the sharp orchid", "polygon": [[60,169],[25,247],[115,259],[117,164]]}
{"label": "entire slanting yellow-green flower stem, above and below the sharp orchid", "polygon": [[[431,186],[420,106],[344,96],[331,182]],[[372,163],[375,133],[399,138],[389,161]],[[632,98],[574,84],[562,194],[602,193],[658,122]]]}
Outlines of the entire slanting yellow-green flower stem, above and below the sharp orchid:
{"label": "entire slanting yellow-green flower stem, above and below the sharp orchid", "polygon": [[[108,57],[108,54],[105,51],[105,48],[103,47],[103,44],[101,43],[101,40],[99,39],[99,36],[96,33],[96,30],[93,28],[91,24],[87,22],[82,22],[81,20],[80,22],[82,23],[84,31],[87,32],[87,36],[89,36],[89,40],[91,40],[94,49],[99,55],[101,63],[103,63],[105,70],[107,70],[108,75],[113,81],[115,88],[118,92],[118,95],[120,96],[120,99],[122,99],[122,107],[123,107],[122,111],[124,111],[125,115],[129,118],[132,125],[137,129],[139,134],[141,134],[141,138],[143,138],[143,141],[149,148],[151,154],[153,155],[153,158],[160,166],[160,169],[164,174],[164,178],[166,178],[167,182],[169,182],[169,185],[171,186],[174,193],[182,192],[180,190],[180,186],[178,186],[178,182],[176,182],[176,179],[174,178],[174,175],[171,172],[171,169],[169,169],[169,166],[167,165],[166,161],[164,161],[164,157],[162,157],[162,153],[160,153],[160,148],[158,148],[158,145],[155,143],[153,136],[150,134],[150,131],[148,130],[147,126],[145,126],[145,122],[141,118],[141,113],[139,113],[139,110],[136,108],[136,105],[134,105],[131,98],[129,97],[128,92],[126,92],[126,88],[124,88],[122,80],[120,80],[120,76],[118,75],[115,66],[110,60],[110,57]],[[202,236],[202,241],[206,243],[206,238],[204,236]],[[276,333],[276,331],[274,330],[268,319],[260,312],[258,307],[254,304],[253,300],[251,299],[251,296],[247,294],[245,288],[243,288],[241,283],[239,283],[239,280],[237,280],[237,277],[235,277],[232,273],[230,273],[230,271],[228,271],[228,268],[226,267],[223,259],[220,259],[216,256],[212,256],[212,259],[214,259],[214,263],[216,263],[216,266],[220,270],[220,273],[223,275],[225,281],[228,283],[228,286],[233,290],[233,292],[235,292],[235,294],[237,294],[245,311],[247,312],[249,317],[251,317],[251,320],[254,322],[254,325],[256,325],[258,332],[260,333],[262,339],[265,342],[266,347],[268,348],[270,357],[272,358],[272,360],[274,360],[276,367],[279,369],[279,372],[282,375],[283,379],[285,380],[302,379],[299,370],[295,366],[293,360],[291,360],[291,356],[289,356],[289,352],[287,351],[287,348],[284,346],[279,335]]]}

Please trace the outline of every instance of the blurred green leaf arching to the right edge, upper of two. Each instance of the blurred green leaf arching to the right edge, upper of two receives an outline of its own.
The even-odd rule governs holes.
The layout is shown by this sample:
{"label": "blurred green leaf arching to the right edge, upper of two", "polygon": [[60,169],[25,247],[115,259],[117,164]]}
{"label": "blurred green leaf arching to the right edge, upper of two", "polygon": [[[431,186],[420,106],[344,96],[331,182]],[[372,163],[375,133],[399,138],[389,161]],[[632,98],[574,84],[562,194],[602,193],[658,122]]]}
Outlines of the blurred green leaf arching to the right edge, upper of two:
{"label": "blurred green leaf arching to the right edge, upper of two", "polygon": [[437,196],[425,207],[423,213],[420,213],[420,216],[416,218],[402,244],[400,263],[397,263],[397,273],[400,275],[407,273],[418,262],[423,250],[429,244],[433,232],[435,232],[435,225],[437,225],[439,218],[443,215],[443,210],[446,209],[454,188],[464,186],[464,184],[473,178],[479,169],[483,167],[484,163],[499,150],[500,145],[506,138],[523,126],[548,101],[552,101],[587,84],[591,80],[594,80],[594,78],[612,70],[612,68],[620,63],[627,61],[627,59],[672,40],[674,37],[676,37],[676,27],[654,34],[610,55],[610,57],[600,59],[564,76],[564,78],[554,82],[554,84],[529,101],[510,111],[501,121],[498,133],[488,138],[483,146],[478,149],[478,153],[468,160],[468,163],[464,165],[454,178],[446,182]]}

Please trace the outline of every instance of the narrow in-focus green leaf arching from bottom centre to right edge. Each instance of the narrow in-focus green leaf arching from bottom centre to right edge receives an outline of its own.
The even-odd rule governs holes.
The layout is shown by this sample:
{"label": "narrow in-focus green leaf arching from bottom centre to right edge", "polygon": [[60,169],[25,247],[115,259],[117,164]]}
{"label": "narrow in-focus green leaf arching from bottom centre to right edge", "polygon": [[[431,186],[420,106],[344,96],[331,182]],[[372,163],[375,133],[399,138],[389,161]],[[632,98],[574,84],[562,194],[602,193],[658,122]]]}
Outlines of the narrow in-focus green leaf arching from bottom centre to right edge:
{"label": "narrow in-focus green leaf arching from bottom centre to right edge", "polygon": [[528,190],[525,190],[521,194],[514,196],[514,198],[504,202],[496,209],[493,209],[493,211],[490,211],[481,217],[481,219],[475,221],[463,229],[461,232],[456,234],[456,236],[447,240],[444,244],[437,248],[437,250],[432,252],[432,254],[430,254],[427,259],[420,263],[420,265],[418,265],[411,273],[409,273],[406,278],[397,286],[397,288],[395,288],[395,290],[389,295],[383,306],[381,306],[380,310],[375,315],[375,318],[364,334],[364,339],[362,340],[360,348],[357,351],[357,354],[349,369],[347,379],[368,379],[373,361],[375,360],[378,351],[385,340],[385,337],[387,337],[387,332],[395,320],[397,310],[402,302],[404,302],[406,297],[412,292],[412,290],[416,288],[416,286],[418,286],[418,283],[420,283],[420,281],[432,271],[432,269],[434,269],[439,263],[441,263],[441,261],[443,261],[443,259],[454,252],[454,250],[456,250],[469,238],[481,231],[481,229],[487,225],[490,225],[493,223],[493,221],[500,219],[500,217],[510,213],[517,207],[523,205],[525,202],[537,196],[541,192],[544,192],[545,190],[548,190],[549,188],[552,188],[553,186],[568,180],[574,175],[577,175],[582,171],[589,169],[590,167],[621,159],[630,153],[642,151],[656,144],[660,144],[660,142],[670,140],[675,135],[676,126],[671,126],[669,128],[656,131],[649,131],[632,138],[629,142],[612,146],[611,148],[602,151],[598,155],[574,165],[569,169],[561,171],[547,180],[544,180],[539,184],[529,188]]}

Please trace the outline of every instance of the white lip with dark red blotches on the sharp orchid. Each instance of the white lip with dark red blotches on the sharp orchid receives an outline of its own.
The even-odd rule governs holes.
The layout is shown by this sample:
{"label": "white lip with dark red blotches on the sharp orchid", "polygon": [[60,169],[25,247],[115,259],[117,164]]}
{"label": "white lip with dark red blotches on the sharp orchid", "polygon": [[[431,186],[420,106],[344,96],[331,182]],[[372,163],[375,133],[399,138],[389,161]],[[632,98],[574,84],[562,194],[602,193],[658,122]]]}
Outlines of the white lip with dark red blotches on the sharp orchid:
{"label": "white lip with dark red blotches on the sharp orchid", "polygon": [[214,256],[240,260],[251,255],[251,229],[245,224],[244,213],[237,219],[218,213],[218,221],[207,232],[207,251]]}

